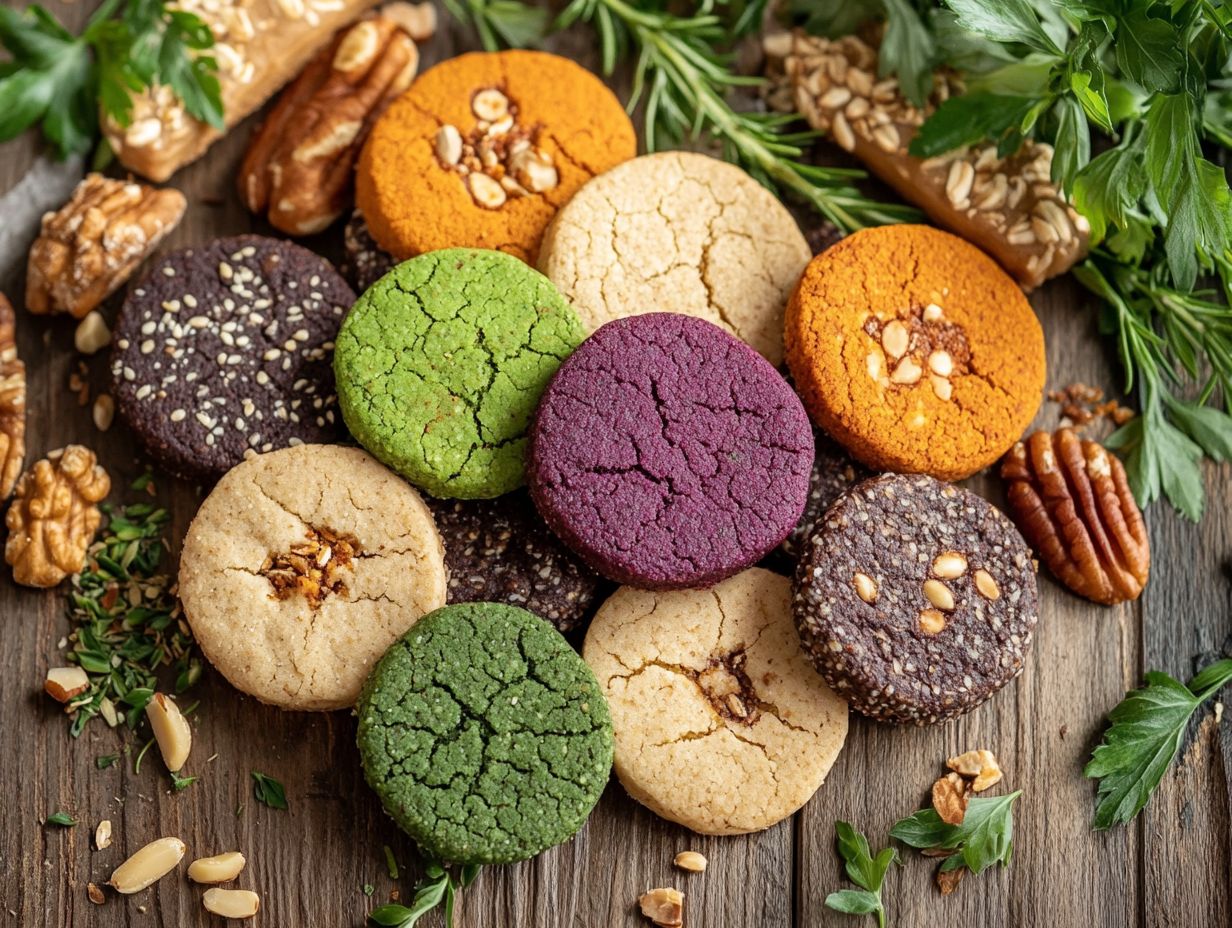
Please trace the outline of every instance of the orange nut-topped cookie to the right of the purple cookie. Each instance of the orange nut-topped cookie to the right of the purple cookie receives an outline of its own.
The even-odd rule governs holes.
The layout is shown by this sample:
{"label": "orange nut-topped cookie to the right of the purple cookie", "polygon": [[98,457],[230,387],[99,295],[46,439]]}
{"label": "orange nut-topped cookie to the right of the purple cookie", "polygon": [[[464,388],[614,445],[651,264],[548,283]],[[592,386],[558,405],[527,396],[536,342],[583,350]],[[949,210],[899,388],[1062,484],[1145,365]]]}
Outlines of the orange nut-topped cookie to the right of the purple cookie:
{"label": "orange nut-topped cookie to the right of the purple cookie", "polygon": [[865,229],[814,258],[784,339],[813,420],[876,470],[968,477],[1040,407],[1044,332],[1023,291],[928,226]]}

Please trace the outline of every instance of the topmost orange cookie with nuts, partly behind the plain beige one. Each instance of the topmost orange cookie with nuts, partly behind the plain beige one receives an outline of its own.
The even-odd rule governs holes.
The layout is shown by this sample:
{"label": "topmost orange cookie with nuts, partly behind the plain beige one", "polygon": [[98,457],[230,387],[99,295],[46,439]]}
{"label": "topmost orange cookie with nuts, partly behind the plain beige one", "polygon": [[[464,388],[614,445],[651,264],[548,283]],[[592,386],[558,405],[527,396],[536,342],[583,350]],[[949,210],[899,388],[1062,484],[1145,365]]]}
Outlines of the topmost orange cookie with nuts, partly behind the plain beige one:
{"label": "topmost orange cookie with nuts, partly behind the plain beige one", "polygon": [[356,201],[398,259],[490,248],[535,263],[577,190],[637,153],[596,76],[543,52],[476,52],[424,73],[377,121]]}

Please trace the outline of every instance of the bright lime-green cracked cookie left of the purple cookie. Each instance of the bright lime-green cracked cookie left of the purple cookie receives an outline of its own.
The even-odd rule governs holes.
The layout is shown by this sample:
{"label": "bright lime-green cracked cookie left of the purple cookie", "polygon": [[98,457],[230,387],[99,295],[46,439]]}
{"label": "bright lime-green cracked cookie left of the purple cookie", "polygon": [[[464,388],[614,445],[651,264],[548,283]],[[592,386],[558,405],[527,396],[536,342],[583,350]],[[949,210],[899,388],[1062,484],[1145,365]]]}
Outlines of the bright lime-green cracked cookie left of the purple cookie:
{"label": "bright lime-green cracked cookie left of the purple cookie", "polygon": [[430,251],[373,283],[342,323],[342,418],[434,497],[499,497],[522,484],[531,414],[583,338],[564,297],[516,258]]}

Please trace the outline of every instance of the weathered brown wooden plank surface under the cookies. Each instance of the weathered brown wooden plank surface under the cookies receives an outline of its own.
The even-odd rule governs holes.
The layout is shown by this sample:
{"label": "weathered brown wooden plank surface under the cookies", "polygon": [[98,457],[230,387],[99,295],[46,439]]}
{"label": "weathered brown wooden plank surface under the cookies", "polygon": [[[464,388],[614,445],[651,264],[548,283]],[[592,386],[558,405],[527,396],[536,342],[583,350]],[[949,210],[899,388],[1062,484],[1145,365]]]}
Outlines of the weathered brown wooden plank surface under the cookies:
{"label": "weathered brown wooden plank surface under the cookies", "polygon": [[[14,0],[5,0],[14,2]],[[53,2],[69,22],[80,5]],[[456,48],[440,36],[434,60]],[[588,42],[577,44],[585,57]],[[190,200],[185,222],[165,248],[219,234],[269,232],[233,195],[233,177],[253,121],[237,128],[174,184]],[[30,171],[33,171],[32,174]],[[126,487],[144,466],[126,430],[100,435],[89,407],[67,383],[78,364],[69,319],[21,312],[25,249],[32,219],[63,201],[74,165],[38,160],[27,137],[0,147],[0,288],[18,306],[18,344],[30,370],[31,456],[69,441],[99,450]],[[25,181],[21,179],[26,177]],[[308,244],[336,255],[338,229]],[[1112,387],[1115,366],[1098,338],[1090,301],[1058,281],[1032,296],[1048,344],[1050,387],[1073,381]],[[112,318],[116,299],[106,312]],[[101,356],[90,362],[92,389],[105,387]],[[1045,404],[1040,425],[1055,421]],[[999,502],[998,482],[970,482]],[[201,488],[158,482],[179,536]],[[1181,763],[1164,779],[1149,808],[1129,828],[1089,829],[1094,789],[1082,765],[1103,730],[1103,717],[1142,670],[1188,678],[1223,651],[1232,633],[1232,472],[1209,467],[1209,511],[1201,525],[1163,507],[1147,515],[1154,572],[1142,600],[1115,609],[1092,606],[1041,578],[1042,615],[1035,654],[1015,685],[947,726],[910,730],[853,718],[846,749],[828,783],[792,820],[761,834],[702,838],[662,822],[631,801],[615,781],[589,824],[572,843],[521,865],[493,868],[466,893],[458,924],[467,928],[536,928],[644,924],[634,900],[652,886],[676,885],[687,895],[695,928],[844,926],[824,896],[845,886],[834,852],[835,818],[864,829],[876,847],[890,826],[918,808],[945,757],[975,747],[993,749],[1007,770],[1004,789],[1021,789],[1013,864],[968,876],[942,898],[933,865],[904,852],[887,877],[891,924],[933,926],[1186,926],[1232,922],[1232,737],[1207,709],[1195,723]],[[206,926],[201,890],[181,876],[133,897],[86,898],[86,882],[103,882],[112,868],[145,842],[184,838],[190,854],[241,849],[249,865],[238,885],[260,891],[259,924],[361,926],[392,890],[409,898],[418,874],[409,840],[381,813],[360,773],[355,723],[346,712],[286,714],[240,696],[207,673],[195,691],[190,771],[201,780],[171,795],[156,758],[139,775],[129,763],[106,770],[94,758],[123,744],[123,736],[91,723],[73,741],[58,707],[41,694],[48,665],[60,663],[57,642],[68,632],[58,593],[12,585],[0,571],[0,921],[21,926]],[[206,758],[217,753],[209,762]],[[265,808],[251,796],[250,770],[281,779],[290,812]],[[237,808],[240,812],[237,813]],[[69,810],[76,828],[44,828],[42,818]],[[110,818],[115,842],[92,849],[94,824]],[[403,868],[386,874],[382,845]],[[710,858],[702,875],[671,868],[686,848]],[[182,874],[182,869],[181,869]],[[361,887],[372,884],[367,898]],[[428,924],[439,924],[434,917]]]}

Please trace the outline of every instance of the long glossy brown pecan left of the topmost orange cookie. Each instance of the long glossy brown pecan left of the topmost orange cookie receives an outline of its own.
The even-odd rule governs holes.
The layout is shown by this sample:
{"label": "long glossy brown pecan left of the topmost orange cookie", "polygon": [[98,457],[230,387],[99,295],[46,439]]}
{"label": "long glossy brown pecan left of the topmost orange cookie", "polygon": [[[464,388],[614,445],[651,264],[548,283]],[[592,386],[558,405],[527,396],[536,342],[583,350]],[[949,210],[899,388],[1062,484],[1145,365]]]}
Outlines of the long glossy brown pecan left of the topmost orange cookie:
{"label": "long glossy brown pecan left of the topmost orange cookie", "polygon": [[244,205],[291,235],[333,223],[351,202],[355,160],[372,123],[418,68],[415,42],[389,16],[341,32],[253,136],[239,173]]}

